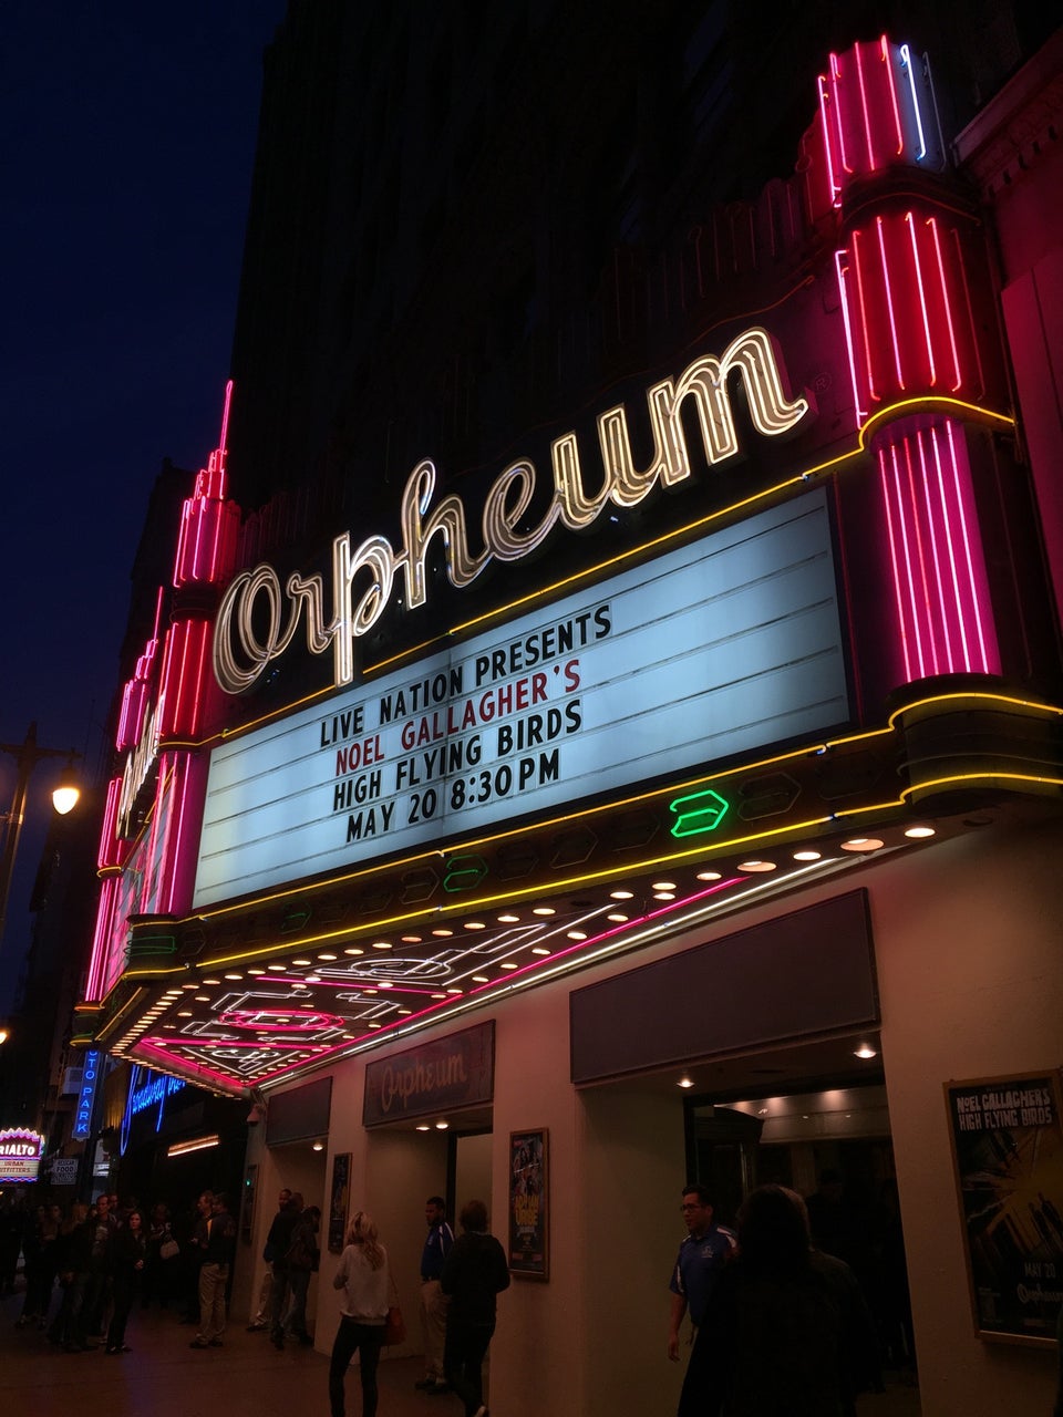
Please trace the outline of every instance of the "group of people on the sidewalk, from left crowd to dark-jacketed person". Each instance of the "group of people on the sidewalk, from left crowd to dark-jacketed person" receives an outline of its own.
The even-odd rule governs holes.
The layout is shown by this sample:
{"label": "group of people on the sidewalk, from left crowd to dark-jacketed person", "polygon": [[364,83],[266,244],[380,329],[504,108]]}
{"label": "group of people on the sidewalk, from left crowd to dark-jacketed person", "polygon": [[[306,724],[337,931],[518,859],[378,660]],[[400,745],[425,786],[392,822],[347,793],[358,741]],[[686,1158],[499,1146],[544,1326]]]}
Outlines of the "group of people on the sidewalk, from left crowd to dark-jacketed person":
{"label": "group of people on the sidewalk, from left crowd to dark-jacketed person", "polygon": [[[509,1267],[499,1241],[488,1231],[483,1202],[461,1210],[455,1237],[441,1196],[425,1203],[428,1234],[421,1257],[421,1319],[425,1335],[425,1379],[429,1394],[451,1393],[465,1417],[488,1417],[483,1360],[495,1332],[496,1298],[509,1287]],[[10,1291],[21,1255],[26,1298],[18,1328],[35,1325],[67,1352],[103,1346],[108,1355],[130,1352],[126,1335],[137,1305],[173,1305],[180,1322],[196,1323],[191,1349],[221,1348],[237,1229],[224,1195],[204,1190],[193,1216],[171,1216],[164,1203],[142,1210],[136,1200],[119,1203],[101,1195],[91,1204],[21,1204],[4,1209],[0,1240],[13,1250]],[[274,1345],[286,1339],[310,1343],[306,1298],[310,1275],[320,1265],[320,1209],[305,1206],[298,1192],[282,1189],[265,1244],[266,1282],[259,1292],[251,1332],[268,1331]],[[14,1243],[10,1241],[14,1237]],[[340,1323],[329,1365],[333,1417],[344,1413],[344,1376],[359,1355],[361,1410],[374,1417],[377,1365],[398,1311],[398,1289],[387,1248],[373,1219],[359,1210],[346,1236],[333,1285],[340,1291]],[[57,1292],[60,1295],[58,1304]]]}

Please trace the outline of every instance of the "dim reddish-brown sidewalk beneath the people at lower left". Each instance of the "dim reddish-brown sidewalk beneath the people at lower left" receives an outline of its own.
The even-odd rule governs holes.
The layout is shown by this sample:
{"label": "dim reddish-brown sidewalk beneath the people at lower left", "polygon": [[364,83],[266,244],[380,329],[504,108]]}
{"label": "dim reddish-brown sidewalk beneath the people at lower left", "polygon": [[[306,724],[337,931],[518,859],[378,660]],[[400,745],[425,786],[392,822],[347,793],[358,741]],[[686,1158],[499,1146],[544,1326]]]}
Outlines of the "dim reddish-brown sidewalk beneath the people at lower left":
{"label": "dim reddish-brown sidewalk beneath the people at lower left", "polygon": [[[133,1309],[132,1352],[108,1356],[54,1348],[35,1326],[16,1328],[20,1292],[0,1299],[0,1411],[23,1417],[293,1417],[329,1411],[329,1360],[312,1348],[285,1345],[234,1325],[224,1348],[193,1352],[194,1325],[171,1311]],[[54,1311],[52,1311],[54,1312]],[[456,1397],[414,1390],[421,1360],[380,1365],[381,1417],[461,1417]],[[356,1369],[347,1373],[347,1414],[361,1411]]]}

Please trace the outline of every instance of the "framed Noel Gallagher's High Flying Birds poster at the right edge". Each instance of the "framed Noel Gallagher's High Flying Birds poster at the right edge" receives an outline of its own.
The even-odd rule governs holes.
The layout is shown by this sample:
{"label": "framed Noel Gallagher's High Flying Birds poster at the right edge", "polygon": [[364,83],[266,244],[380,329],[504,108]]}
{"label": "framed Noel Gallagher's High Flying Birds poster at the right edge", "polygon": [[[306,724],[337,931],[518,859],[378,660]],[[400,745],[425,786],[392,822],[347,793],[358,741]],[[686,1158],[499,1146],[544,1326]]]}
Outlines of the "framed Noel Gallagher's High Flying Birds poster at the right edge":
{"label": "framed Noel Gallagher's High Flying Birds poster at the right edge", "polygon": [[1063,1301],[1059,1074],[947,1083],[945,1098],[978,1336],[1054,1346]]}

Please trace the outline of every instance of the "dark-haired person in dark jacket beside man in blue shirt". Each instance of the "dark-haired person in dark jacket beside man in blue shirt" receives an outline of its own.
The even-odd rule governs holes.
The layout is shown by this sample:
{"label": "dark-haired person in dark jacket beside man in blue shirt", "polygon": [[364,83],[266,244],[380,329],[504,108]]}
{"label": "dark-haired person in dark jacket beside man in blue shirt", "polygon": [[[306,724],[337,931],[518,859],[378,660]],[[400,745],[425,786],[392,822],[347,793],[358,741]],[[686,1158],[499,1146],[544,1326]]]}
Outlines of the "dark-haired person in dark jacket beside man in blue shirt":
{"label": "dark-haired person in dark jacket beside man in blue shirt", "polygon": [[444,1369],[465,1403],[465,1417],[488,1417],[483,1406],[483,1355],[495,1332],[496,1295],[509,1288],[506,1251],[488,1234],[488,1207],[469,1200],[459,1216],[462,1234],[444,1263],[441,1285],[449,1295]]}

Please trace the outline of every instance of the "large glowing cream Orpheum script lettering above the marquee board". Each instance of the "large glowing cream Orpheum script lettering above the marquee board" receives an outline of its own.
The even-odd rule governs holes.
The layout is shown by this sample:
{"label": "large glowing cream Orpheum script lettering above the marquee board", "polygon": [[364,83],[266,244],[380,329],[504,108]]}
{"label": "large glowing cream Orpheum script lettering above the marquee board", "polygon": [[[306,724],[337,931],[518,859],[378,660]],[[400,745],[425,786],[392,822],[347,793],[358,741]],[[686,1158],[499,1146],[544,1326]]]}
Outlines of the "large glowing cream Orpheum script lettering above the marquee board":
{"label": "large glowing cream Orpheum script lettering above the marquee board", "polygon": [[[524,519],[536,492],[536,468],[527,459],[510,463],[490,486],[480,520],[483,547],[469,548],[465,506],[456,495],[432,506],[435,465],[425,459],[410,473],[401,503],[403,544],[384,536],[367,537],[351,548],[350,533],[332,543],[332,614],[326,616],[320,575],[293,571],[286,582],[269,564],[241,571],[218,609],[214,633],[214,676],[225,693],[249,689],[266,665],[281,656],[305,619],[312,655],[333,652],[336,687],[354,679],[354,640],[380,619],[403,572],[405,606],[415,609],[427,597],[425,557],[434,537],[442,540],[446,575],[461,589],[492,561],[519,561],[537,550],[556,526],[570,531],[590,527],[612,503],[635,507],[656,487],[675,487],[692,476],[680,410],[693,404],[710,465],[738,452],[727,380],[741,376],[750,417],[757,432],[778,438],[808,412],[805,398],[788,400],[771,336],[754,327],[734,339],[717,359],[687,364],[677,380],[665,378],[646,391],[653,456],[635,466],[624,404],[598,415],[602,479],[588,492],[574,432],[550,445],[554,490],[537,526]],[[356,591],[356,582],[359,588]]]}

